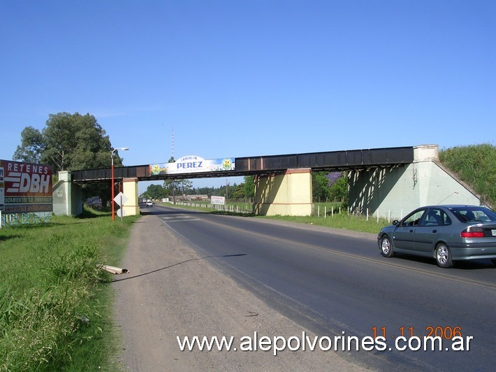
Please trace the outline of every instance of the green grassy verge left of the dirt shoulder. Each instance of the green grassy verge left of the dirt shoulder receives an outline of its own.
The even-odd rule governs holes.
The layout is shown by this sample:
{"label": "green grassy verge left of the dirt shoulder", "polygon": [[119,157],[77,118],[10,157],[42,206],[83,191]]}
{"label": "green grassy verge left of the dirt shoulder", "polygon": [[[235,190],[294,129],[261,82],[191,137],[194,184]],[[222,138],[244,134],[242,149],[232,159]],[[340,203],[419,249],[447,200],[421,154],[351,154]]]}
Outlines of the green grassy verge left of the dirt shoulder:
{"label": "green grassy verge left of the dirt shoulder", "polygon": [[52,217],[0,230],[0,371],[110,369],[110,274],[139,216]]}

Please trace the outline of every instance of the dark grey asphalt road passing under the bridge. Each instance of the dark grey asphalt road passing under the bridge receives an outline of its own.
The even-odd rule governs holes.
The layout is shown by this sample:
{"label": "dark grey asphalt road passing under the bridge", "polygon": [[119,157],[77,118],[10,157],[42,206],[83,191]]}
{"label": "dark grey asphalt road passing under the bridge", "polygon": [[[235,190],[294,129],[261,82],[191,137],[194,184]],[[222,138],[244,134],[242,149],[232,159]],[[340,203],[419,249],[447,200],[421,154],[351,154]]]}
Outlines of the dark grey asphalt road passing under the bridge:
{"label": "dark grey asphalt road passing under the bridge", "polygon": [[[145,213],[156,215],[222,272],[319,336],[361,340],[374,336],[374,329],[377,336],[385,335],[386,350],[346,352],[372,369],[494,369],[496,268],[490,262],[440,269],[434,260],[381,257],[372,234],[161,206]],[[446,339],[441,351],[395,350],[402,334],[431,332],[445,338],[461,334],[465,348],[472,337],[469,350],[446,350],[451,347]]]}

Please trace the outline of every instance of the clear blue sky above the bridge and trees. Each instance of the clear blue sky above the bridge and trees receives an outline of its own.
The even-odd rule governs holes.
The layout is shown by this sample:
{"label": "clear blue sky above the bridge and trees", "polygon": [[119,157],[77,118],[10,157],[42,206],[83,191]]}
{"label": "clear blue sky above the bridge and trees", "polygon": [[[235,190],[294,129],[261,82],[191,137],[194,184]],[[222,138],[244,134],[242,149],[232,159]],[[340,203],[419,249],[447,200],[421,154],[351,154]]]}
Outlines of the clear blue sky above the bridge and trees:
{"label": "clear blue sky above the bridge and trees", "polygon": [[172,131],[176,159],[494,145],[495,20],[494,0],[3,0],[0,158],[60,112],[125,165],[167,162]]}

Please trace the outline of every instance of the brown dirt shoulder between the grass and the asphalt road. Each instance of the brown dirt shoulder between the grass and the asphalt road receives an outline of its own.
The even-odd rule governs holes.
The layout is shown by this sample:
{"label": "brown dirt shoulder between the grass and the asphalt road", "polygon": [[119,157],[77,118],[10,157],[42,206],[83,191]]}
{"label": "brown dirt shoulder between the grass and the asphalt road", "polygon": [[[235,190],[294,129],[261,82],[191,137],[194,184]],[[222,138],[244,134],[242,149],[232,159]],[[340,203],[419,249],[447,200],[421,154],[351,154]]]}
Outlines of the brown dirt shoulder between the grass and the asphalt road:
{"label": "brown dirt shoulder between the grass and the asphalt road", "polygon": [[[364,371],[335,352],[240,351],[240,338],[255,331],[287,339],[306,330],[219,273],[157,217],[144,215],[133,227],[122,266],[129,273],[113,283],[122,370]],[[176,336],[234,336],[238,351],[181,351]]]}

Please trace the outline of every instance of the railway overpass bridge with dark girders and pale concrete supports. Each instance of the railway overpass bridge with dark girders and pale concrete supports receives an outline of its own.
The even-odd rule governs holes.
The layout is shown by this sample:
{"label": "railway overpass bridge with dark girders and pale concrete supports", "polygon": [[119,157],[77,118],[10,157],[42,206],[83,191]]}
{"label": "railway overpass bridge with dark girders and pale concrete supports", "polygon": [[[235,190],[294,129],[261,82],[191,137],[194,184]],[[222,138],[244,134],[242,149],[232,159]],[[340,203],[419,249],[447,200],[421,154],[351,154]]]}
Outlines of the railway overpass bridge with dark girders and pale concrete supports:
{"label": "railway overpass bridge with dark girders and pale concrete supports", "polygon": [[[200,157],[170,164],[145,164],[114,169],[126,195],[124,215],[139,214],[138,181],[255,176],[256,215],[310,215],[312,171],[348,171],[349,207],[353,212],[400,218],[421,205],[481,203],[467,185],[439,163],[437,145],[311,152],[217,159],[207,166]],[[205,164],[203,164],[205,162]],[[172,168],[174,167],[174,168]],[[81,185],[111,182],[111,169],[59,172],[54,186],[54,213],[82,212]]]}

